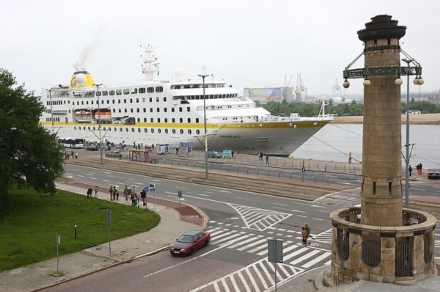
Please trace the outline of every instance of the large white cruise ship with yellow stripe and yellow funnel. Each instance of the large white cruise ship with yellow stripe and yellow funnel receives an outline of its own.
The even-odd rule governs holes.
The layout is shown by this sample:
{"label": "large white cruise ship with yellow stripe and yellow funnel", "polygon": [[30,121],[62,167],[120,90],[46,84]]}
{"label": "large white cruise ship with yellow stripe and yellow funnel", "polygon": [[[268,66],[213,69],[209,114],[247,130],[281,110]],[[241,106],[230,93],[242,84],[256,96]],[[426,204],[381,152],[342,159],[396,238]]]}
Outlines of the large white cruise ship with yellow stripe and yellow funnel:
{"label": "large white cruise ship with yellow stripe and yellow funnel", "polygon": [[144,49],[142,84],[107,87],[77,69],[69,84],[43,88],[41,124],[59,138],[289,156],[333,119],[324,101],[315,117],[275,116],[205,72],[192,79],[176,69],[159,80],[153,48]]}

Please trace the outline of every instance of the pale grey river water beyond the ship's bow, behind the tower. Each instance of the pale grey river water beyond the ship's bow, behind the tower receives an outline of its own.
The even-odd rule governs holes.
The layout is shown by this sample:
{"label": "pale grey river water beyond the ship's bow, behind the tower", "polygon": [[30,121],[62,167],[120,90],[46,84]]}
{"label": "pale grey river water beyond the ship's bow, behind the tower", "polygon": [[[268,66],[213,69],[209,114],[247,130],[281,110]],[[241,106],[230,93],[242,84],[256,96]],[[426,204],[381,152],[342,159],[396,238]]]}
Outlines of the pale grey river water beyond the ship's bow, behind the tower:
{"label": "pale grey river water beyond the ship's bow, behind the tower", "polygon": [[[406,125],[401,125],[401,151],[406,156]],[[410,165],[440,167],[440,125],[410,125]],[[414,145],[411,145],[414,144]],[[412,150],[411,150],[412,147]],[[292,154],[294,158],[347,162],[362,161],[362,124],[329,123]],[[402,158],[402,166],[404,166]]]}

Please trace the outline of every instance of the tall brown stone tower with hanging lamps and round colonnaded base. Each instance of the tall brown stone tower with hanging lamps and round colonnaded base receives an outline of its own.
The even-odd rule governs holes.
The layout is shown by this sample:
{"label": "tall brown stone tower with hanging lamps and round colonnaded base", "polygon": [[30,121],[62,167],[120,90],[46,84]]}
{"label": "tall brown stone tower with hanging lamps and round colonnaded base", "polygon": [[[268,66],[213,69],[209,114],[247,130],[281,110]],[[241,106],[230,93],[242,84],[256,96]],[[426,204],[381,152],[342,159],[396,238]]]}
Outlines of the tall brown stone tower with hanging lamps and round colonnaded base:
{"label": "tall brown stone tower with hanging lamps and round colonnaded base", "polygon": [[[389,15],[373,17],[358,32],[364,68],[349,65],[344,71],[345,88],[347,78],[364,78],[361,207],[330,214],[333,245],[326,273],[334,285],[360,279],[413,284],[435,272],[436,218],[402,208],[400,75],[415,75],[400,64],[405,32]],[[416,69],[419,77],[421,67]]]}

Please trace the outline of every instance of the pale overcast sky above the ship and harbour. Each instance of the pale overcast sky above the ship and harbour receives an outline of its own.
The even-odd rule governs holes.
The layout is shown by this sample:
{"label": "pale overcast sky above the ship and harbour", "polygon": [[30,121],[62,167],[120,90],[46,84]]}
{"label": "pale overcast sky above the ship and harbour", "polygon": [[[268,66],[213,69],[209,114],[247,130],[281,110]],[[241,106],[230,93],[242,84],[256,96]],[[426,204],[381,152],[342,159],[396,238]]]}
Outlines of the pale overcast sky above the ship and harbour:
{"label": "pale overcast sky above the ship and harbour", "polygon": [[[291,76],[295,86],[300,73],[308,95],[331,94],[362,52],[358,30],[388,14],[407,27],[401,48],[423,67],[421,90],[432,91],[440,89],[439,11],[437,0],[2,1],[0,68],[36,95],[68,84],[80,60],[98,83],[133,85],[143,80],[140,46],[151,44],[160,79],[179,67],[197,78],[204,64],[242,93]],[[351,69],[360,67],[363,58]],[[350,82],[346,94],[362,93],[362,80]]]}

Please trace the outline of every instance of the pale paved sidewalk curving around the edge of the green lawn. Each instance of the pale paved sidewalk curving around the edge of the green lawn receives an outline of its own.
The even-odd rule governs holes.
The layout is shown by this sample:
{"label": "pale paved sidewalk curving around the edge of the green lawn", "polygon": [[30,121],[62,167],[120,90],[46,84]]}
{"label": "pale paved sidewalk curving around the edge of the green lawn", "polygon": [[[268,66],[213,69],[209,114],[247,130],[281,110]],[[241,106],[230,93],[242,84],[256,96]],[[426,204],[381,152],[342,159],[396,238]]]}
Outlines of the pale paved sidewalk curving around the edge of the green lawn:
{"label": "pale paved sidewalk curving around the edge of the green lawn", "polygon": [[[78,182],[56,182],[56,188],[82,195],[85,195],[88,186]],[[109,199],[109,194],[100,191],[98,198]],[[123,196],[113,202],[130,204],[130,201],[126,201]],[[153,210],[153,198],[148,198],[147,207]],[[166,250],[183,232],[201,230],[206,225],[207,220],[200,210],[185,204],[181,204],[180,210],[181,218],[179,218],[179,204],[177,202],[156,199],[156,212],[161,217],[159,224],[148,232],[111,241],[111,256],[109,256],[109,243],[102,243],[74,254],[61,256],[58,267],[65,275],[58,278],[49,276],[56,273],[56,257],[33,265],[4,271],[0,273],[0,291],[39,291],[65,280],[72,280],[87,273],[107,269],[134,258]]]}

